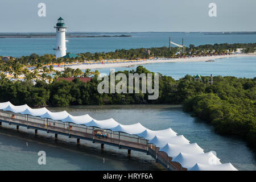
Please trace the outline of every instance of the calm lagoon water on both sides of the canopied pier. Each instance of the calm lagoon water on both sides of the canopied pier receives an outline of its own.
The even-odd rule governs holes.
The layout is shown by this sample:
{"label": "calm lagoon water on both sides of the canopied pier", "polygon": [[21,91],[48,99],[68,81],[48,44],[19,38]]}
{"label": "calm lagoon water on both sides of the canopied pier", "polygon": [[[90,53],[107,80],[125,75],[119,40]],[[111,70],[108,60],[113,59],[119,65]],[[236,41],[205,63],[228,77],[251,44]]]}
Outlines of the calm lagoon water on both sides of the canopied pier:
{"label": "calm lagoon water on both sides of the canopied pier", "polygon": [[[109,106],[71,106],[48,108],[51,111],[67,110],[72,115],[89,114],[95,119],[114,118],[122,124],[140,122],[151,130],[171,127],[188,140],[197,142],[205,152],[214,150],[222,163],[231,162],[240,170],[255,170],[256,158],[246,143],[234,137],[224,137],[214,133],[213,127],[184,113],[181,106],[173,105],[109,105]],[[10,129],[12,128],[12,129]],[[142,153],[59,135],[55,141],[53,134],[3,124],[0,127],[0,169],[1,170],[162,170],[162,166]],[[25,133],[28,131],[28,134]],[[26,146],[28,142],[28,147]],[[46,151],[47,164],[38,164],[38,151]],[[103,158],[105,164],[103,164]]]}

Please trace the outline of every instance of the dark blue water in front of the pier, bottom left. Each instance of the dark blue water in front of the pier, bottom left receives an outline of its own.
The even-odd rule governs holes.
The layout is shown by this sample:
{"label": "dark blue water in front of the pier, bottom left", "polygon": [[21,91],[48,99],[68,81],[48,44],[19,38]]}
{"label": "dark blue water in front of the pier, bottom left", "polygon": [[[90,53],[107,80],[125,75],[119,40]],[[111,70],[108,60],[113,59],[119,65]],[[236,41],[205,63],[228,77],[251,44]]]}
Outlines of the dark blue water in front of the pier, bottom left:
{"label": "dark blue water in front of the pier, bottom left", "polygon": [[[28,146],[27,146],[28,144]],[[46,165],[38,164],[38,152],[46,152]],[[138,155],[138,153],[141,153]],[[103,163],[105,159],[105,163]],[[0,170],[164,170],[151,156],[2,123],[0,127]]]}

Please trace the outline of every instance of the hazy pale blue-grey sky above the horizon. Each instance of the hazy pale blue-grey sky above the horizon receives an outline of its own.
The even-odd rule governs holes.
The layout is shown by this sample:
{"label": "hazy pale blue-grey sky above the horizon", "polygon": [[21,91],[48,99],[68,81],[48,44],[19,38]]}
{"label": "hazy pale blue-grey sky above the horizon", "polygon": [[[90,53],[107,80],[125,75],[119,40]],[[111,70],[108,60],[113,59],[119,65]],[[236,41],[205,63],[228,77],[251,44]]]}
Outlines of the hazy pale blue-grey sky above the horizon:
{"label": "hazy pale blue-grey sky above the horizon", "polygon": [[60,16],[69,32],[256,31],[255,0],[1,0],[0,32],[53,32]]}

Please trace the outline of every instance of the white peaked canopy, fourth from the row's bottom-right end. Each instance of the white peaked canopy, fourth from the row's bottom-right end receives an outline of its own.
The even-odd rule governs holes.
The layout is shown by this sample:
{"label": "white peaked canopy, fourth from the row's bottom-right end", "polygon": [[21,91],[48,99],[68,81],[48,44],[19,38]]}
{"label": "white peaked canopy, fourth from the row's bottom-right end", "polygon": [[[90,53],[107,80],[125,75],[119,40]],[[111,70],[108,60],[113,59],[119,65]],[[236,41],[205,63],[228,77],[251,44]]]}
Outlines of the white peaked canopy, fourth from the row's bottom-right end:
{"label": "white peaked canopy, fourth from the row's bottom-right end", "polygon": [[171,144],[189,144],[189,140],[183,135],[177,135],[175,137],[159,137],[155,136],[148,143],[154,143],[156,147],[164,147],[167,143]]}

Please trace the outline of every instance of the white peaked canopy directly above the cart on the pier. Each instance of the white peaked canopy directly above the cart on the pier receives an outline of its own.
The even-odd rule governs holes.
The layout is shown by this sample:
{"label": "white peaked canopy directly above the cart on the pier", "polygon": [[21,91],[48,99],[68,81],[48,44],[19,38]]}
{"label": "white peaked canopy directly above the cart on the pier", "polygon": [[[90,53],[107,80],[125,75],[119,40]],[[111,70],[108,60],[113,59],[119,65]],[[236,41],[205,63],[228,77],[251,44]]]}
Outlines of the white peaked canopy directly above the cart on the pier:
{"label": "white peaked canopy directly above the cart on the pier", "polygon": [[116,122],[113,118],[110,118],[110,119],[101,120],[101,121],[93,119],[92,121],[86,123],[85,125],[90,127],[98,127],[100,129],[109,129],[109,128],[118,126],[119,123]]}

